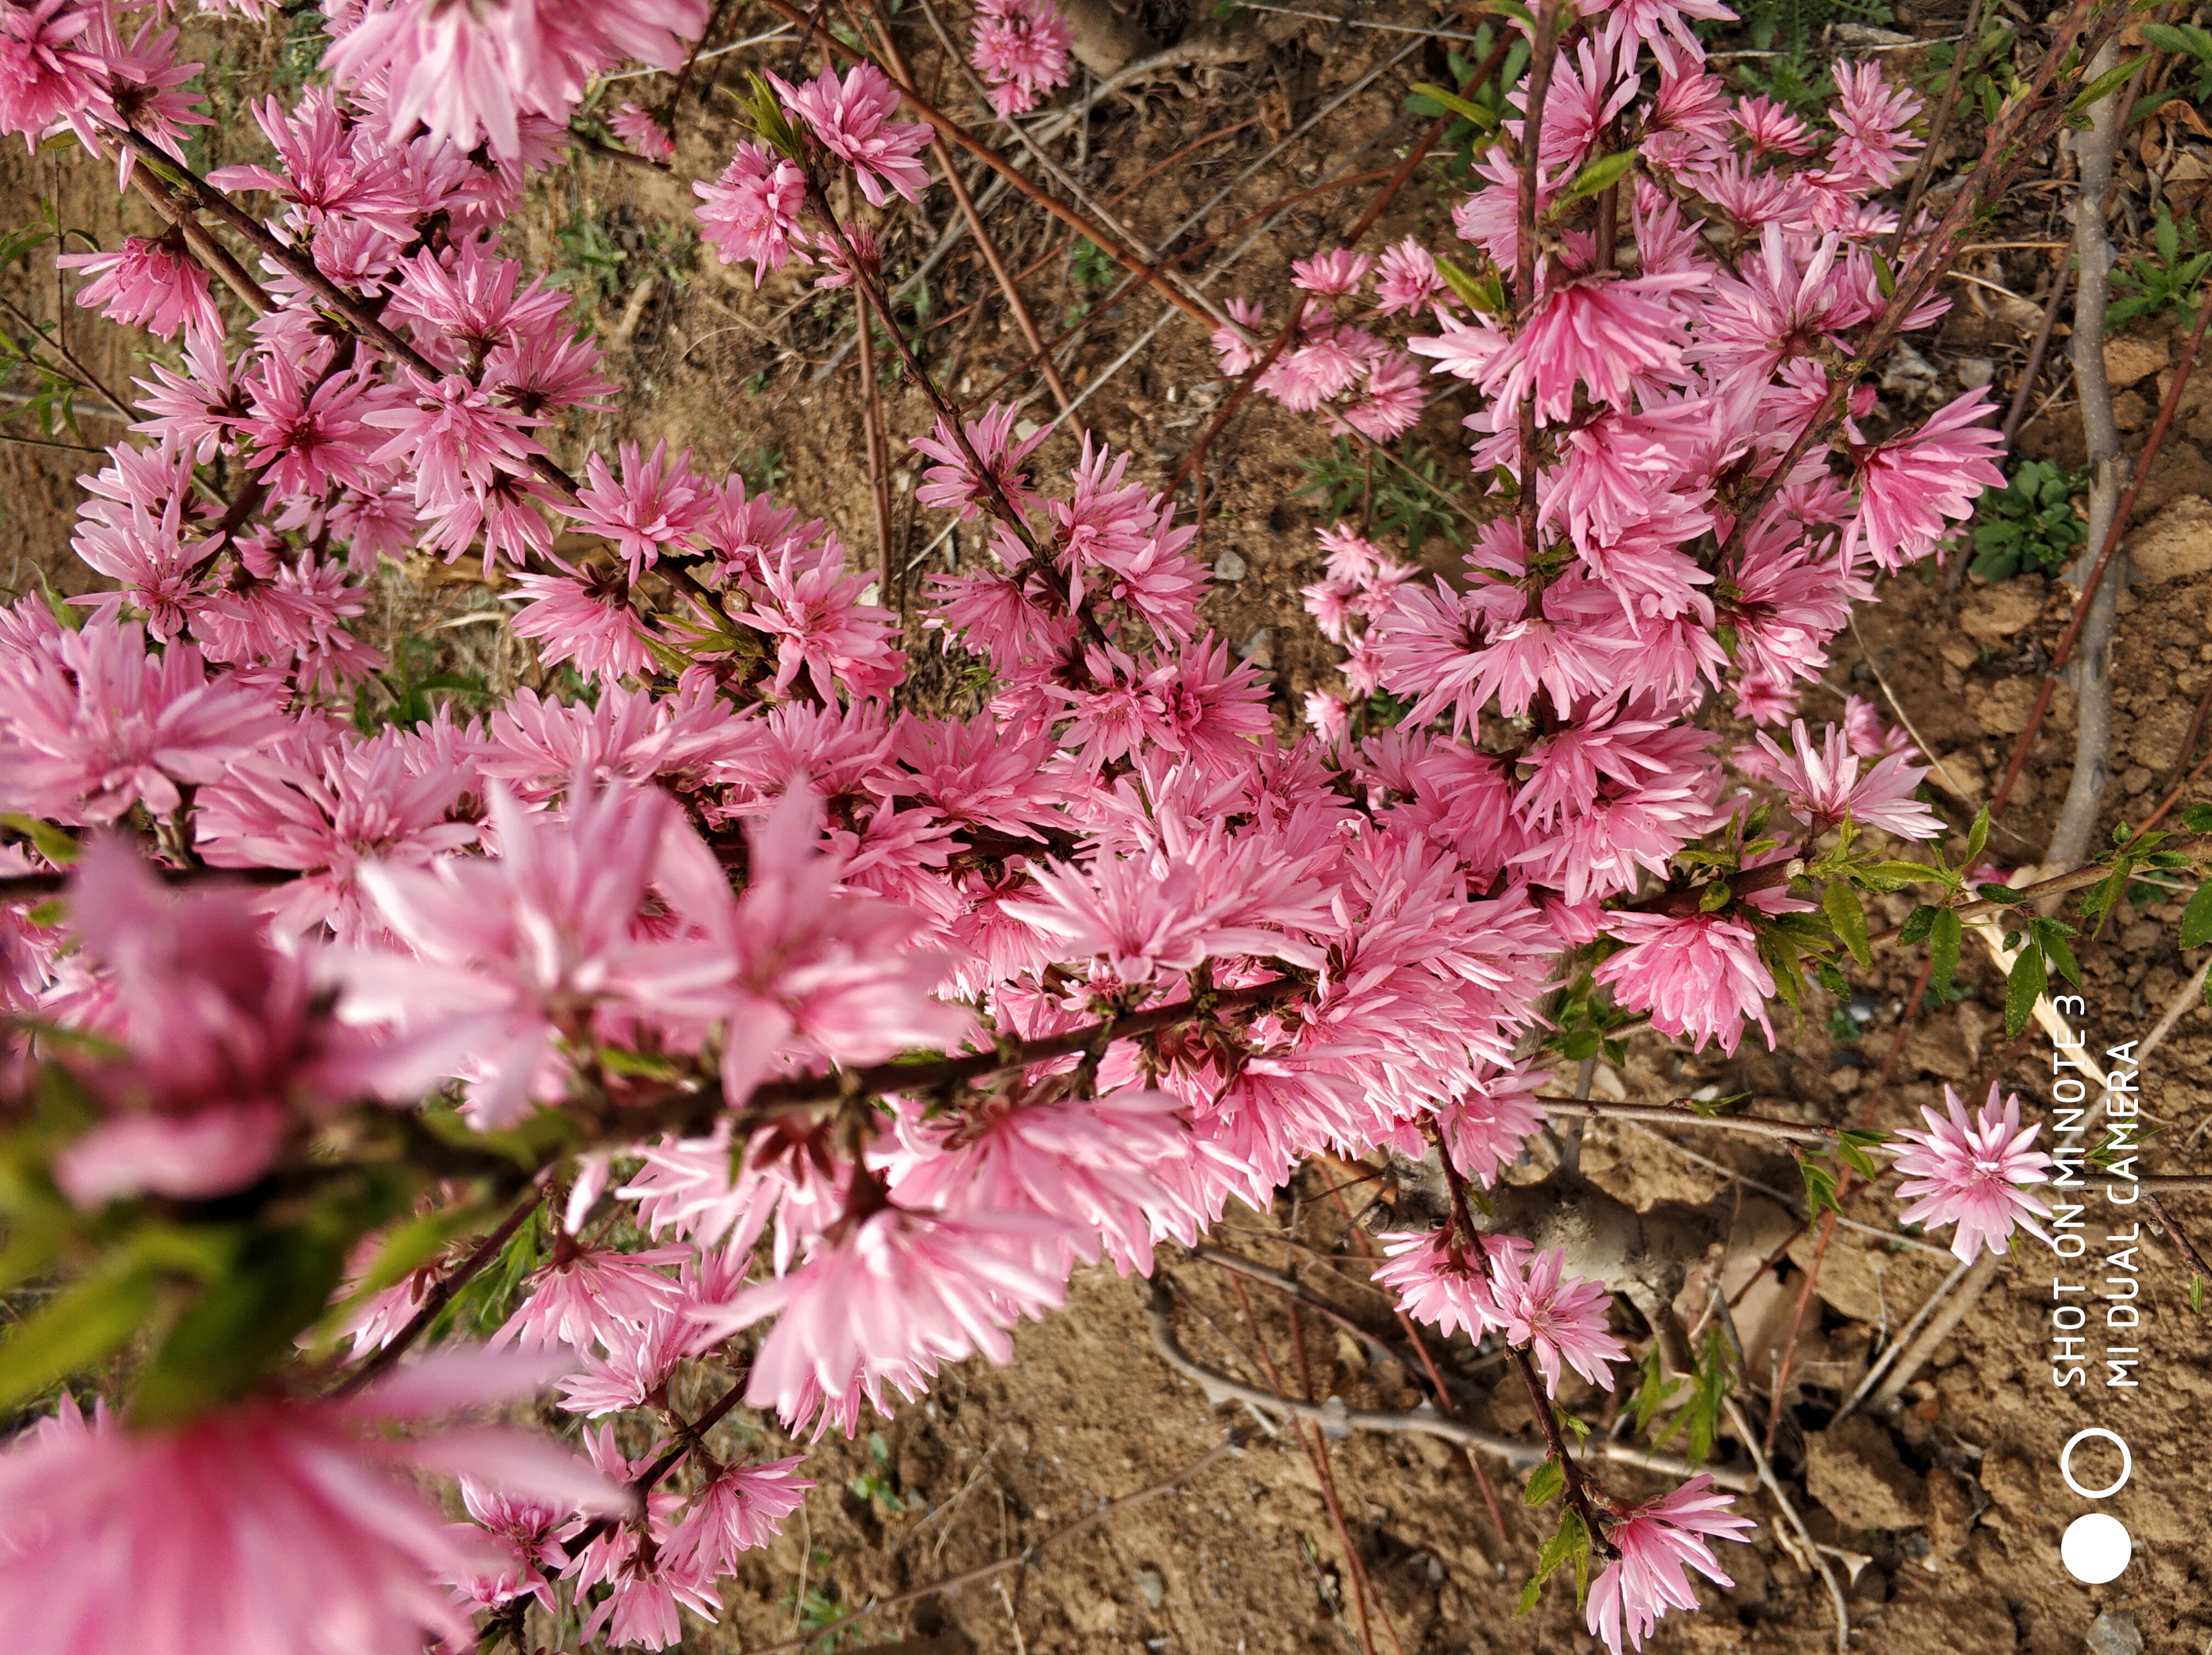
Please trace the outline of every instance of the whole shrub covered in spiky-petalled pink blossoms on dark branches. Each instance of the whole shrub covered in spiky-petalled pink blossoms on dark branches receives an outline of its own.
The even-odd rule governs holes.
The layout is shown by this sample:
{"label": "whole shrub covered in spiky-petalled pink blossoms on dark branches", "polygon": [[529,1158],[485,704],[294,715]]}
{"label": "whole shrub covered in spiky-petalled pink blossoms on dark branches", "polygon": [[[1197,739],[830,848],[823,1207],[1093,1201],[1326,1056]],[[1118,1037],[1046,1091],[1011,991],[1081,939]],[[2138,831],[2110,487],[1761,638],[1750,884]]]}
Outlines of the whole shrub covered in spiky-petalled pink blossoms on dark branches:
{"label": "whole shrub covered in spiky-petalled pink blossoms on dark branches", "polygon": [[[538,1602],[670,1646],[807,1487],[719,1460],[712,1418],[852,1434],[1009,1361],[1075,1263],[1148,1272],[1307,1155],[1396,1151],[1453,1210],[1378,1281],[1513,1352],[1577,1573],[1604,1558],[1588,1626],[1641,1642],[1747,1520],[1708,1478],[1637,1505],[1582,1469],[1551,1398],[1615,1385],[1641,1332],[1482,1186],[1542,1131],[1548,1062],[1637,1020],[1772,1040],[1770,1000],[1865,958],[1858,892],[1964,894],[1980,832],[1960,870],[1865,843],[1942,828],[1867,708],[1770,732],[1871,573],[2000,480],[1980,392],[1863,425],[1856,372],[1938,314],[1955,228],[1907,226],[1893,270],[1918,102],[1845,69],[1818,135],[1703,69],[1686,20],[1719,7],[1553,7],[1460,243],[1301,259],[1272,343],[1228,305],[1223,369],[1329,431],[1387,440],[1436,374],[1469,385],[1493,496],[1458,582],[1323,538],[1345,690],[1310,730],[1206,628],[1197,529],[1130,456],[1086,436],[1044,478],[1011,407],[967,418],[909,358],[918,500],[989,522],[989,566],[931,577],[989,679],[945,719],[896,701],[900,622],[823,522],[666,445],[551,451],[617,387],[502,226],[588,82],[681,66],[706,13],[332,7],[327,84],[254,111],[274,166],[197,179],[159,7],[0,0],[0,126],[113,155],[175,223],[82,259],[77,303],[181,339],[86,478],[108,584],[0,611],[0,1199],[13,1279],[73,1281],[0,1345],[0,1398],[144,1347],[117,1414],[64,1401],[0,1456],[9,1624],[122,1648],[135,1600],[133,1646],[380,1653]],[[1066,82],[1051,4],[978,7],[973,49],[1000,113]],[[757,80],[757,139],[692,186],[723,261],[889,321],[834,181],[931,184],[900,102],[867,60]],[[650,111],[613,131],[670,153]],[[385,666],[365,580],[416,549],[480,564],[586,693],[343,719]],[[1725,750],[1717,706],[1765,730]],[[2033,1224],[2042,1157],[1993,1108],[1907,1135],[1913,1215],[1962,1257]],[[1874,1170],[1874,1142],[1834,1151]],[[491,1261],[511,1314],[422,1356]],[[712,1418],[672,1412],[686,1365],[741,1374]],[[588,1458],[367,1429],[555,1383]],[[471,1524],[396,1463],[462,1476]]]}

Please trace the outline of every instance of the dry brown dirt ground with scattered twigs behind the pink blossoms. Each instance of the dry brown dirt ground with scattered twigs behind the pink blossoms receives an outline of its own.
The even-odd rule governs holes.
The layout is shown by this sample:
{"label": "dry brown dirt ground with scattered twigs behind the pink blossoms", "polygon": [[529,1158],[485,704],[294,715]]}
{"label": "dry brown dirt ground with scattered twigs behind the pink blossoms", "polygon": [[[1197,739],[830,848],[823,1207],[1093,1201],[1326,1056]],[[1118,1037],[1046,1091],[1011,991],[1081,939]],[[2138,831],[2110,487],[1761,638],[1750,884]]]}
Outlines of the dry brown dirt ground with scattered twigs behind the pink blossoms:
{"label": "dry brown dirt ground with scattered twigs behind the pink blossoms", "polygon": [[[2020,11],[2006,7],[2006,11]],[[1402,13],[1402,15],[1400,15]],[[1964,2],[1898,9],[1898,38],[1955,35]],[[1097,106],[1079,148],[1064,146],[1066,166],[1093,199],[1113,204],[1146,237],[1161,237],[1199,215],[1192,237],[1228,237],[1237,246],[1252,215],[1294,190],[1340,175],[1387,166],[1407,131],[1398,111],[1413,80],[1436,77],[1433,44],[1407,53],[1409,35],[1336,27],[1327,20],[1245,13],[1199,29],[1212,35],[1250,31],[1250,55],[1237,64],[1159,75]],[[1146,24],[1175,40],[1186,18],[1152,7]],[[1378,22],[1433,22],[1413,7],[1380,7]],[[732,9],[728,29],[748,24]],[[960,106],[927,27],[900,15],[900,38],[925,84]],[[1453,24],[1458,27],[1458,24]],[[728,35],[726,29],[726,35]],[[734,38],[734,35],[730,35]],[[1725,42],[1723,42],[1725,44]],[[1823,38],[1823,49],[1834,40]],[[274,49],[252,33],[215,40],[221,53],[228,119],[206,139],[210,164],[239,159],[254,144],[241,119],[243,91],[276,73]],[[776,51],[770,46],[768,51]],[[1396,62],[1391,62],[1396,58]],[[1891,51],[1893,73],[1924,75],[1922,51]],[[701,471],[743,467],[779,471],[779,498],[830,518],[854,549],[874,560],[872,489],[860,465],[858,372],[841,345],[852,339],[852,299],[816,299],[790,277],[759,292],[750,277],[721,268],[690,230],[688,179],[712,177],[739,128],[732,102],[717,86],[739,82],[741,66],[776,66],[774,58],[737,53],[717,60],[714,80],[688,97],[679,119],[679,157],[670,177],[580,159],[535,188],[520,223],[526,257],[591,283],[584,316],[611,350],[611,372],[626,385],[615,409],[573,420],[557,451],[582,456],[617,440],[688,445]],[[257,80],[259,77],[259,80]],[[1371,80],[1369,80],[1371,77]],[[1367,82],[1360,86],[1360,82]],[[657,82],[648,82],[657,84]],[[659,82],[664,84],[664,82]],[[1332,108],[1332,100],[1356,89]],[[1248,119],[1252,117],[1252,119]],[[2148,204],[2163,188],[2177,217],[2203,212],[2205,153],[2174,124],[2161,148],[2137,146],[2124,159],[2115,235],[2141,239]],[[1201,139],[1208,139],[1201,144]],[[1287,142],[1285,142],[1287,139]],[[1953,137],[1938,175],[1949,175],[1978,131]],[[1183,153],[1157,175],[1150,170]],[[2004,246],[1969,259],[1986,285],[1951,283],[1951,319],[1916,341],[1927,372],[1900,374],[1893,403],[1916,412],[1958,394],[1975,376],[1993,376],[2008,398],[2026,358],[2028,336],[2064,252],[2068,162],[2046,157],[2048,175],[2017,192],[1986,230]],[[1248,175],[1250,170],[1250,175]],[[27,159],[0,150],[0,199],[7,221],[29,221],[40,199],[60,219],[113,241],[122,219],[100,164],[66,150]],[[1217,190],[1228,188],[1221,201]],[[2197,195],[2192,195],[2192,190]],[[1210,292],[1248,292],[1281,305],[1287,261],[1334,237],[1371,199],[1374,184],[1314,195],[1274,219]],[[1455,192],[1416,181],[1367,241],[1402,235],[1449,237]],[[883,215],[876,215],[878,219]],[[911,268],[951,221],[931,197],[933,228],[916,215],[885,219],[894,270]],[[2205,226],[2212,230],[2212,226]],[[1024,292],[1053,332],[1068,312],[1095,301],[1071,268],[1066,235],[1020,201],[991,217],[998,246],[1013,268],[1040,263]],[[2044,246],[2035,246],[2044,243]],[[1188,246],[1179,243],[1179,246]],[[1199,266],[1192,266],[1199,268]],[[1026,356],[989,274],[969,243],[931,274],[931,305],[920,321],[929,367],[962,396],[978,396]],[[51,319],[51,263],[33,254],[0,277],[0,296],[22,312]],[[1139,294],[1097,316],[1075,347],[1066,376],[1088,392],[1079,414],[1037,456],[1051,476],[1075,456],[1073,429],[1133,451],[1133,476],[1164,487],[1197,431],[1223,396],[1201,332],[1170,319],[1139,361],[1115,367],[1161,305]],[[13,323],[11,323],[13,325]],[[2042,376],[2037,400],[2048,405],[2022,429],[2020,454],[2079,462],[2081,427],[2062,336]],[[66,343],[91,378],[128,392],[133,339],[71,312]],[[2130,451],[2141,447],[2150,412],[2170,383],[2179,339],[2170,325],[2139,325],[2112,341],[2108,365]],[[22,385],[22,381],[9,381]],[[1051,403],[1035,381],[1026,387],[1029,418],[1044,420]],[[927,429],[918,392],[889,385],[894,438],[894,544],[898,571],[891,600],[909,615],[911,695],[956,706],[956,675],[920,626],[922,575],[978,555],[973,533],[942,544],[929,513],[914,507],[916,465],[902,440]],[[1447,480],[1460,476],[1455,405],[1440,398],[1416,440],[1440,458]],[[7,431],[35,436],[13,414]],[[115,440],[117,420],[84,412],[82,440]],[[75,440],[69,431],[62,440]],[[1290,719],[1305,690],[1332,681],[1329,646],[1312,631],[1298,586],[1321,573],[1316,502],[1298,493],[1301,456],[1318,451],[1312,423],[1254,403],[1212,449],[1206,469],[1208,518],[1203,555],[1217,586],[1206,615],[1239,653],[1272,677],[1276,708]],[[2150,471],[2137,507],[2137,542],[2159,551],[2121,600],[2115,662],[2117,715],[2104,832],[2141,816],[2166,797],[2177,754],[2199,697],[2212,686],[2212,381],[2197,381],[2181,405],[2174,436]],[[66,551],[75,476],[97,456],[22,440],[0,445],[0,513],[9,551],[0,566],[22,589],[31,569],[62,591],[82,591],[82,571]],[[1186,493],[1188,500],[1188,493]],[[1453,560],[1444,538],[1427,555]],[[387,571],[385,608],[372,620],[392,633],[425,633],[458,664],[478,670],[491,690],[526,681],[533,666],[502,628],[431,631],[487,602],[480,586],[445,571]],[[1840,693],[1878,701],[1887,717],[1913,728],[1942,757],[1951,790],[1938,805],[1964,823],[1995,788],[2035,695],[2051,646],[2066,624],[2073,593],[2057,580],[2015,577],[2000,586],[1960,580],[1951,569],[1911,571],[1882,584],[1880,604],[1860,615],[1856,633],[1834,648],[1829,690],[1807,697],[1807,717],[1838,717]],[[2053,719],[2022,774],[2004,828],[1989,854],[2004,865],[2035,861],[2073,766],[2073,706],[2059,697]],[[2197,785],[2188,799],[2212,799]],[[2081,1024],[2097,1044],[2139,1038],[2203,960],[2177,949],[2177,920],[2188,892],[2139,889],[2108,934],[2084,949],[2088,1011]],[[1902,918],[1900,901],[1891,920]],[[1871,1124],[1918,1124],[1944,1082],[1986,1089],[2002,1038],[2002,976],[1973,956],[1960,976],[1962,998],[1929,1018],[1902,1024],[1918,956],[1878,954],[1871,974],[1854,974],[1847,1002],[1816,998],[1807,1016],[1778,1024],[1778,1049],[1756,1040],[1736,1060],[1705,1060],[1639,1040],[1624,1071],[1601,1069],[1599,1097],[1666,1100],[1712,1086],[1752,1093],[1761,1113],[1816,1122],[1856,1120],[1860,1095],[1902,1040],[1896,1075]],[[2051,1095],[2048,1044],[2035,1040],[2006,1071],[2031,1113]],[[2146,1170],[2194,1170],[2199,1137],[2212,1126],[2205,1082],[2212,1075],[2212,1011],[2190,1011],[2143,1073],[2146,1115],[2163,1128]],[[1655,1142],[1639,1126],[1590,1133],[1584,1168],[1601,1188],[1650,1208],[1694,1204],[1730,1215],[1732,1286],[1743,1286],[1736,1319],[1754,1376],[1787,1334],[1812,1248],[1801,1237],[1770,1268],[1801,1217],[1801,1186],[1790,1157],[1759,1139],[1705,1133],[1694,1142]],[[1542,1175],[1544,1159],[1526,1170]],[[1405,1330],[1389,1301],[1367,1286],[1371,1235],[1389,1228],[1391,1184],[1378,1168],[1310,1166],[1270,1212],[1237,1212],[1212,1239],[1261,1270],[1292,1272],[1301,1288],[1343,1319],[1318,1310],[1292,1319],[1279,1286],[1239,1277],[1223,1266],[1166,1248],[1161,1277],[1172,1283],[1175,1325],[1201,1363],[1261,1389],[1281,1387],[1312,1398],[1340,1398],[1352,1409],[1427,1405],[1429,1381],[1383,1347],[1402,1350]],[[2037,1246],[2017,1252],[1969,1319],[1938,1347],[1933,1363],[1907,1387],[1902,1405],[1882,1418],[1829,1432],[1843,1394],[1867,1367],[1869,1352],[1891,1339],[1949,1272],[1949,1257],[1896,1232],[1898,1204],[1858,1193],[1847,1215],[1863,1230],[1838,1230],[1794,1354],[1798,1378],[1783,1405],[1778,1469],[1816,1542],[1849,1573],[1854,1646],[1882,1655],[2126,1655],[2128,1651],[2212,1651],[2212,1584],[2205,1580],[2212,1496],[2205,1493],[2201,1445],[2212,1405],[2212,1323],[2188,1305],[2188,1270],[2159,1239],[2143,1243],[2146,1374],[2139,1392],[2053,1389],[2048,1383],[2051,1257]],[[2183,1228],[2212,1239],[2212,1199],[2174,1195]],[[1891,1237],[1891,1239],[1885,1239]],[[2099,1241],[2093,1239],[2093,1248]],[[1358,1328],[1354,1334],[1349,1328]],[[814,1633],[874,1597],[894,1597],[1000,1560],[1015,1566],[945,1593],[885,1606],[843,1631],[834,1646],[885,1640],[938,1640],[933,1648],[1011,1655],[1245,1655],[1248,1651],[1369,1651],[1369,1655],[1438,1655],[1460,1651],[1593,1651],[1573,1613],[1573,1593],[1555,1582],[1542,1604],[1515,1617],[1548,1513],[1522,1507],[1513,1476],[1482,1471],[1495,1493],[1493,1522],[1471,1465],[1422,1434],[1352,1432],[1323,1438],[1263,1423],[1250,1409],[1212,1405],[1155,1352],[1144,1283],[1113,1272],[1079,1272],[1066,1314],[1024,1325],[1011,1370],[971,1363],[945,1376],[933,1396],[876,1423],[854,1443],[812,1445],[810,1474],[818,1489],[783,1538],[730,1593],[719,1628],[692,1628],[695,1648],[761,1648]],[[1500,1432],[1531,1429],[1517,1381],[1464,1347],[1431,1352],[1447,1372],[1455,1407],[1469,1423]],[[708,1381],[712,1383],[712,1381]],[[1599,1429],[1613,1423],[1604,1398],[1571,1394]],[[1770,1398],[1754,1398],[1765,1407]],[[2126,1493],[2101,1502],[2135,1536],[2137,1562],[2110,1586],[2081,1586],[2059,1566],[2059,1533],[2090,1509],[2059,1478],[2057,1456],[2084,1425],[2119,1429],[2135,1454]],[[754,1427],[748,1427],[754,1429]],[[761,1447],[774,1447],[770,1427]],[[1239,1432],[1239,1447],[1214,1456],[1175,1491],[1135,1500],[1060,1538],[1106,1502],[1155,1489],[1219,1449]],[[1723,1440],[1717,1465],[1747,1469],[1741,1445]],[[2084,1465],[2088,1460],[2084,1458]],[[1630,1467],[1610,1467],[1621,1493],[1657,1493],[1663,1482]],[[1747,1496],[1759,1533],[1747,1547],[1721,1547],[1736,1578],[1732,1593],[1701,1586],[1712,1613],[1674,1615],[1652,1640],[1657,1651],[1803,1651],[1834,1648],[1834,1617],[1816,1575],[1783,1544],[1774,1500]],[[1024,1560],[1026,1558],[1026,1560]],[[1356,1575],[1371,1582],[1363,1609]],[[1363,1624],[1365,1622],[1365,1624]],[[918,1644],[920,1646],[920,1644]]]}

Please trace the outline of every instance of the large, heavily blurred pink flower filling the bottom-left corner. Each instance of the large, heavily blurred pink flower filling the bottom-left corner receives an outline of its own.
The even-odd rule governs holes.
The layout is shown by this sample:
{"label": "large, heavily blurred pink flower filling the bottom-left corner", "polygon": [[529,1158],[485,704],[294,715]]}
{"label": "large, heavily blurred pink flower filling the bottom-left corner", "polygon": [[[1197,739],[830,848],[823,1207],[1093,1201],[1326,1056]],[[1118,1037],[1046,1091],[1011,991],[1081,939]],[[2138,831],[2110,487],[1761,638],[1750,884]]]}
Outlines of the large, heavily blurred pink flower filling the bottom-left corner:
{"label": "large, heavily blurred pink flower filling the bottom-left corner", "polygon": [[[473,1640],[440,1580],[498,1549],[409,1471],[467,1474],[566,1511],[630,1493],[509,1427],[392,1438],[383,1423],[529,1394],[542,1359],[431,1352],[363,1396],[254,1401],[184,1425],[40,1432],[0,1454],[0,1615],[66,1655],[418,1655]],[[64,1403],[64,1412],[73,1412]]]}

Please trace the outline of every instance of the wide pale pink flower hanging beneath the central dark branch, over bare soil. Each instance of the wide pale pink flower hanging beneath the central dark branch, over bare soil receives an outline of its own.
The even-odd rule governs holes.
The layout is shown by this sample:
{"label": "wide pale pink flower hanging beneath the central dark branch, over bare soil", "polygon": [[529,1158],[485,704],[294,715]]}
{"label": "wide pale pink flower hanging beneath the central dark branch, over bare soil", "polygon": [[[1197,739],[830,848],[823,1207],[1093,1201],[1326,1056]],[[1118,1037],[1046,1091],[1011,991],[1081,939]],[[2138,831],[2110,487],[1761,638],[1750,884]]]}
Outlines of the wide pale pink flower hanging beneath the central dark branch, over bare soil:
{"label": "wide pale pink flower hanging beneath the central dark branch, over bare soil", "polygon": [[942,1363],[978,1350],[1013,1361],[1006,1330],[1057,1310],[1064,1281],[1031,1257],[1055,1219],[1033,1215],[931,1217],[883,1206],[834,1226],[787,1277],[699,1312],[717,1334],[776,1316],[745,1381],[745,1401],[774,1407],[787,1429],[836,1420],[852,1436],[860,1401],[889,1414],[885,1389],[920,1396]]}

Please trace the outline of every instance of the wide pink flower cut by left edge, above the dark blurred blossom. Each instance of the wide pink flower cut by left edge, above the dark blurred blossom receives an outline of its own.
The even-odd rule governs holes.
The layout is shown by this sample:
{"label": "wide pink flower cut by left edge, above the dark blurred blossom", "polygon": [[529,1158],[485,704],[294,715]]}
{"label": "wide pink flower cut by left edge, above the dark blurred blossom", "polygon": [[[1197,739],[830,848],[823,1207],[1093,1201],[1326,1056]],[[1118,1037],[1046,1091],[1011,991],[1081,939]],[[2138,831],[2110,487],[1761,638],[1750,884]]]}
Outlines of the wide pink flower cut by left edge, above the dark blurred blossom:
{"label": "wide pink flower cut by left edge, above the dark blurred blossom", "polygon": [[115,821],[133,803],[170,814],[179,785],[285,730],[261,695],[210,679],[199,650],[146,650],[142,628],[86,622],[51,648],[0,648],[0,801],[55,821]]}

